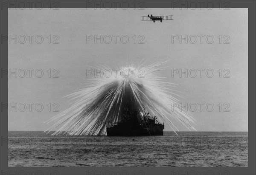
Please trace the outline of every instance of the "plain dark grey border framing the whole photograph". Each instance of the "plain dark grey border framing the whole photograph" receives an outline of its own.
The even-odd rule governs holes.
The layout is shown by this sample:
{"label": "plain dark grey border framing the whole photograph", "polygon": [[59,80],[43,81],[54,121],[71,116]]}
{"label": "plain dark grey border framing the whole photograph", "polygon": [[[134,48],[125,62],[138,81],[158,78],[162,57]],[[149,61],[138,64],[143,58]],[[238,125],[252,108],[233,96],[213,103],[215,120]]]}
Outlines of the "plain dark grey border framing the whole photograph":
{"label": "plain dark grey border framing the whole photograph", "polygon": [[[134,1],[117,0],[116,7],[120,8],[122,3],[122,7],[125,7],[124,4],[128,3],[129,8],[134,8]],[[44,8],[49,8],[48,0],[23,2],[29,8],[40,7],[42,3]],[[97,8],[100,6],[104,8],[104,0],[51,0],[57,8],[94,8],[90,5],[94,2],[98,4],[103,2]],[[136,1],[139,2],[143,8],[179,8],[180,3],[183,4],[182,8],[194,8],[195,4],[199,8],[210,8],[211,4],[214,4],[214,8],[219,8],[220,0],[196,0],[193,1],[195,3],[190,3],[191,1],[188,0]],[[248,167],[8,167],[8,110],[3,110],[0,112],[0,175],[256,175],[256,1],[226,0],[221,3],[228,5],[227,8],[248,8]],[[23,8],[23,4],[19,0],[0,0],[1,39],[4,35],[8,36],[9,5],[11,8]],[[0,42],[0,69],[8,69],[8,40]],[[3,76],[0,77],[0,103],[6,102],[8,102],[8,76]]]}

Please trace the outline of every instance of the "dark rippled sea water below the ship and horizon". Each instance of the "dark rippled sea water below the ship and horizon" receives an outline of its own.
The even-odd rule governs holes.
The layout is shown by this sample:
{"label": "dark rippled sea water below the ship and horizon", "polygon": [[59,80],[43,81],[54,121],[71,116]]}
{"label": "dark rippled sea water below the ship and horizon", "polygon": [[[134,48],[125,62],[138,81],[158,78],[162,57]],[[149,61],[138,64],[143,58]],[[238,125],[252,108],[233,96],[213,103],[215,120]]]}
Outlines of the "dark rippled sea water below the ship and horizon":
{"label": "dark rippled sea water below the ship and horizon", "polygon": [[248,167],[247,132],[52,136],[9,131],[9,167]]}

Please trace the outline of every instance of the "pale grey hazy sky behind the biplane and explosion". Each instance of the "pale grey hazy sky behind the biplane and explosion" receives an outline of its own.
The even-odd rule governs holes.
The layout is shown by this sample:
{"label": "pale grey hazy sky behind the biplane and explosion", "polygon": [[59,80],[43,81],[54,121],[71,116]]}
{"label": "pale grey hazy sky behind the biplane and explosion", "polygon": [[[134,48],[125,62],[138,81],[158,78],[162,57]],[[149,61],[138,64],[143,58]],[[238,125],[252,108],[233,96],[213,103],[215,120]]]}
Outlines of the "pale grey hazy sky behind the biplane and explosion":
{"label": "pale grey hazy sky behind the biplane and explosion", "polygon": [[[141,21],[141,16],[148,14],[174,15],[174,20],[162,23]],[[245,8],[11,9],[8,18],[9,35],[12,38],[17,35],[17,44],[15,40],[9,41],[9,70],[14,72],[17,69],[18,72],[20,69],[34,69],[31,78],[29,71],[24,78],[20,77],[23,76],[23,71],[17,74],[17,78],[14,74],[9,75],[12,76],[9,78],[9,104],[15,106],[17,103],[17,112],[15,108],[9,111],[9,130],[46,130],[52,123],[46,124],[44,121],[70,107],[69,99],[63,97],[85,87],[87,68],[97,65],[118,68],[127,62],[139,63],[142,59],[146,60],[145,65],[169,60],[169,68],[160,75],[166,76],[167,82],[178,85],[175,90],[183,97],[179,98],[182,105],[197,104],[198,109],[195,112],[190,110],[189,114],[197,120],[193,126],[198,131],[248,130],[248,17]],[[26,36],[24,44],[20,43],[24,40],[21,35]],[[27,35],[34,35],[31,44]],[[35,36],[38,35],[44,38],[41,44],[37,43],[41,41],[40,36],[35,42]],[[115,44],[112,37],[109,44],[104,43],[104,40],[102,44],[99,41],[95,44],[94,40],[87,43],[87,35],[127,35],[129,41],[124,44],[117,37]],[[137,37],[136,44],[134,35]],[[138,38],[139,35],[143,37]],[[188,44],[185,43],[186,40],[182,40],[180,44],[179,39],[172,42],[173,37],[180,35],[183,38],[188,35]],[[194,44],[190,43],[195,41],[192,35],[197,36]],[[202,43],[198,35],[204,35]],[[207,43],[212,42],[212,37],[206,40],[209,35],[214,38],[212,44]],[[105,39],[108,42],[108,38]],[[138,44],[141,39],[144,44]],[[53,44],[54,40],[59,43]],[[44,72],[41,78],[35,76],[35,70],[38,69]],[[48,77],[49,69],[51,78]],[[54,69],[59,72],[53,72]],[[172,70],[175,69],[212,69],[214,76],[209,78],[206,71],[203,71],[201,78],[198,71],[195,78],[186,78],[185,75],[180,78],[179,74],[172,77]],[[221,78],[218,72],[220,69]],[[227,70],[224,72],[225,69]],[[59,78],[52,77],[55,73],[58,73]],[[211,75],[211,72],[208,73]],[[224,78],[226,73],[229,78]],[[190,75],[193,76],[194,72]],[[22,103],[26,104],[24,112],[21,111]],[[33,103],[31,111],[28,103]],[[38,103],[44,106],[41,112],[35,110],[35,104]],[[56,104],[53,106],[54,103],[59,104],[59,112],[53,111],[57,107]],[[198,103],[204,103],[202,111]],[[214,105],[212,112],[206,109],[205,104],[208,103]],[[229,112],[224,112],[226,107]],[[165,130],[170,129],[166,127]],[[182,127],[180,130],[186,131]]]}

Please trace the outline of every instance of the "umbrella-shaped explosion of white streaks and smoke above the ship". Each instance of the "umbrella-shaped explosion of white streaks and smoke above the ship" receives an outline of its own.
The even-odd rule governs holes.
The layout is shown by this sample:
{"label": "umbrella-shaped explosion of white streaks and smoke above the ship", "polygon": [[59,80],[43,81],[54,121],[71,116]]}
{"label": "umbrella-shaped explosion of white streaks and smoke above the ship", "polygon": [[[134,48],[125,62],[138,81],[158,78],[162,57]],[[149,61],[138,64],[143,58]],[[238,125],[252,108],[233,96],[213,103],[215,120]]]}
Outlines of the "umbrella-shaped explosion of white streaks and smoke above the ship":
{"label": "umbrella-shaped explosion of white streaks and smoke above the ship", "polygon": [[91,79],[88,88],[70,94],[76,101],[69,109],[48,121],[55,121],[47,130],[48,133],[61,126],[53,135],[105,135],[107,125],[122,121],[127,109],[137,113],[140,122],[145,122],[143,113],[147,111],[167,123],[174,131],[178,131],[174,121],[181,122],[189,130],[195,130],[190,124],[194,119],[180,111],[179,107],[172,106],[178,104],[175,94],[170,92],[175,84],[165,82],[165,77],[157,75],[158,71],[164,69],[164,64],[157,63],[137,69],[120,68],[108,77]]}

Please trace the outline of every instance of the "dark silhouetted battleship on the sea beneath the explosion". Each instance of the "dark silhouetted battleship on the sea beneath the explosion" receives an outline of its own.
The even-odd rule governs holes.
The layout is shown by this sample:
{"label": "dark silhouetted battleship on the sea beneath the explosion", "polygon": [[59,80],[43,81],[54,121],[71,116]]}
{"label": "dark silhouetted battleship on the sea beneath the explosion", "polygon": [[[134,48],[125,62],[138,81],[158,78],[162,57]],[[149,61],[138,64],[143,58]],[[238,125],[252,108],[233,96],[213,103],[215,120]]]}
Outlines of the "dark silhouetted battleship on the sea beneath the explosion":
{"label": "dark silhouetted battleship on the sea beneath the explosion", "polygon": [[123,121],[108,124],[108,136],[148,136],[163,135],[164,124],[157,121],[157,117],[143,116],[143,121],[137,117],[127,116]]}

